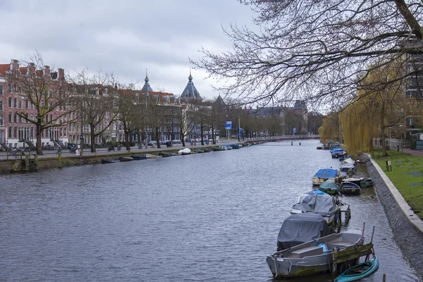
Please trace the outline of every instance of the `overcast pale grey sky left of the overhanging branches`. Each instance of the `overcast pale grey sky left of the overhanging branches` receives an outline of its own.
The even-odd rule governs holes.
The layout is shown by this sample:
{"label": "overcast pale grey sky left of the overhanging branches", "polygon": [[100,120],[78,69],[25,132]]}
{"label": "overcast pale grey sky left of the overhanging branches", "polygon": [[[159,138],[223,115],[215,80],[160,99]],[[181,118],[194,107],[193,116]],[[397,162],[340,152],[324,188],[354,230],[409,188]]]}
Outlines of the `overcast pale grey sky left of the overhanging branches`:
{"label": "overcast pale grey sky left of the overhanging branches", "polygon": [[[147,69],[153,90],[175,95],[187,85],[189,59],[202,47],[230,51],[222,27],[252,25],[254,16],[236,0],[1,0],[0,13],[0,63],[37,51],[70,75],[101,69],[139,88]],[[219,95],[204,70],[192,77],[203,98]]]}

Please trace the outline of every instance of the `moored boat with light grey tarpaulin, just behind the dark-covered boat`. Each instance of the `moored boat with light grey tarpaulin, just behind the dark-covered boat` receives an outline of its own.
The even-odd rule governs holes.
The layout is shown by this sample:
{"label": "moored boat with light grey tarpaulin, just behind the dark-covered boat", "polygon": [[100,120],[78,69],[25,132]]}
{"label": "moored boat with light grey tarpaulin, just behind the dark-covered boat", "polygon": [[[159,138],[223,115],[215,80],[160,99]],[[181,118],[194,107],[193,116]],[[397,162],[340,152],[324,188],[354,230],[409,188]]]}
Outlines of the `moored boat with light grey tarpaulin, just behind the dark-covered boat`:
{"label": "moored boat with light grey tarpaulin, just behind the dark-covered boat", "polygon": [[338,205],[336,198],[320,190],[311,190],[298,197],[297,204],[291,209],[291,214],[313,212],[323,216],[329,226],[338,225]]}

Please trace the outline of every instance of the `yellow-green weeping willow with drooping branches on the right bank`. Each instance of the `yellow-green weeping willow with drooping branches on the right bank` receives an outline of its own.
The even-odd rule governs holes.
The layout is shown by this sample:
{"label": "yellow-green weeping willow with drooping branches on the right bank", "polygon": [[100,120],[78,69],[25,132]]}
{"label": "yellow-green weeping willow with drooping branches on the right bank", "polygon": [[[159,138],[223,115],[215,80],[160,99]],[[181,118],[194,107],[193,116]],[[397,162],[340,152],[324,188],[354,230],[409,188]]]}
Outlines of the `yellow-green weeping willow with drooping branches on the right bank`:
{"label": "yellow-green weeping willow with drooping branches on the right bank", "polygon": [[[344,145],[351,153],[372,152],[374,138],[386,144],[386,128],[402,123],[414,108],[416,100],[405,96],[405,61],[387,60],[381,65],[366,74],[357,96],[341,112]],[[386,156],[386,147],[381,149]]]}

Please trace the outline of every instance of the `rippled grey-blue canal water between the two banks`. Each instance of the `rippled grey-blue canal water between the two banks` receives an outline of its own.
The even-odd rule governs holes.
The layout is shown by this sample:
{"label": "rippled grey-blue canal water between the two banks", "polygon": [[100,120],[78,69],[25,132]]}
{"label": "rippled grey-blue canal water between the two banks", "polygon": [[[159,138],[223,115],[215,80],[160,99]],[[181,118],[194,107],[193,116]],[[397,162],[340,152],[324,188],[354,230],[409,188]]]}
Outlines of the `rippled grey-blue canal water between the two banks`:
{"label": "rippled grey-blue canal water between the two banks", "polygon": [[[301,142],[0,176],[0,281],[271,281],[283,219],[339,166]],[[368,241],[376,226],[379,271],[362,281],[419,281],[374,189],[342,200],[347,228],[365,222]]]}

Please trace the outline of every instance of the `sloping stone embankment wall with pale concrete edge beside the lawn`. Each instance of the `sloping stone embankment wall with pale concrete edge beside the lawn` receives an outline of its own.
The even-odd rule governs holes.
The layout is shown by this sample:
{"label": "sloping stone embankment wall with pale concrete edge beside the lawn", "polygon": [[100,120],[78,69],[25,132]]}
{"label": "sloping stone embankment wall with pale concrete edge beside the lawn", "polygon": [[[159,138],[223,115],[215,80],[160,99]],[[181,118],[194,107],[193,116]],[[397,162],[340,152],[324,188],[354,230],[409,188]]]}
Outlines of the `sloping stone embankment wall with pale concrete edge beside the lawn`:
{"label": "sloping stone embankment wall with pale concrete edge beside the lawn", "polygon": [[[372,158],[367,162],[367,170],[374,180],[379,202],[386,213],[393,238],[400,247],[405,259],[415,270],[420,281],[423,279],[423,223],[412,212],[403,196],[384,171]],[[369,215],[371,216],[371,215]]]}

